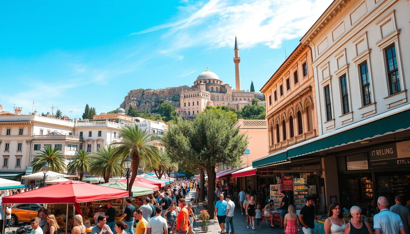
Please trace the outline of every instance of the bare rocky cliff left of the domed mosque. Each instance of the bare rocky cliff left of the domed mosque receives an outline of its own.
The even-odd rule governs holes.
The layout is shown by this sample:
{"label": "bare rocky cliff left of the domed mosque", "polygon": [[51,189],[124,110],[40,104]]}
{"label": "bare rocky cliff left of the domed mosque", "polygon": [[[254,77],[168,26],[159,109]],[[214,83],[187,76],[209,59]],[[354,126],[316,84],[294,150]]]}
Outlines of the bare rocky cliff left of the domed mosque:
{"label": "bare rocky cliff left of the domed mosque", "polygon": [[125,96],[120,107],[125,109],[125,113],[130,105],[137,108],[138,111],[153,111],[159,108],[159,101],[171,103],[174,107],[179,107],[180,93],[185,91],[189,86],[169,87],[165,89],[133,89]]}

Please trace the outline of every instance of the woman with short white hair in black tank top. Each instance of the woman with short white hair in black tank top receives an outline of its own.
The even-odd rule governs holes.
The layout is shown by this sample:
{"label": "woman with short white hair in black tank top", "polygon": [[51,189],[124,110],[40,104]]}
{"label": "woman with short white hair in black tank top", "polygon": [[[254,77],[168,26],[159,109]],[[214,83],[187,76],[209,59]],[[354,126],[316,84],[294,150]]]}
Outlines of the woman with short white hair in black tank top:
{"label": "woman with short white hair in black tank top", "polygon": [[343,233],[345,234],[373,234],[373,230],[371,229],[370,224],[362,220],[362,209],[360,209],[360,207],[358,206],[351,207],[350,214],[352,216],[352,220],[350,222],[347,222]]}

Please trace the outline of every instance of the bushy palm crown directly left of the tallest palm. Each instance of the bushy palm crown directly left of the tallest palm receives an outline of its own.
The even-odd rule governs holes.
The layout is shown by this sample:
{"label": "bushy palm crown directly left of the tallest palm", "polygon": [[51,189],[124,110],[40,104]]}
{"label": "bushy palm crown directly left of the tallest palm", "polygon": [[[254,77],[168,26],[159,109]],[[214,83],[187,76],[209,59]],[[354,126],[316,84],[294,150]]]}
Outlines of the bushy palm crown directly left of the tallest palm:
{"label": "bushy palm crown directly left of the tallest palm", "polygon": [[90,159],[89,172],[103,177],[105,183],[108,183],[109,178],[121,176],[121,173],[124,173],[123,158],[116,154],[115,148],[111,145],[99,148],[90,156]]}

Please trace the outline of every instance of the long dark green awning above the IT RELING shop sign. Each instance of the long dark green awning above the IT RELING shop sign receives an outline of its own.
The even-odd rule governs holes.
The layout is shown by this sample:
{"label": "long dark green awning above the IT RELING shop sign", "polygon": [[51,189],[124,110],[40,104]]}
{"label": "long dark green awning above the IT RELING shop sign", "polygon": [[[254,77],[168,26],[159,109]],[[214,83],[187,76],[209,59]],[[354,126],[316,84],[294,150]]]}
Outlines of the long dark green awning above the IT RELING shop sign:
{"label": "long dark green awning above the IT RELING shop sign", "polygon": [[[357,127],[353,127],[351,129],[347,129],[337,134],[323,137],[316,141],[312,139],[313,141],[310,143],[306,143],[295,148],[290,146],[287,149],[287,158],[289,159],[328,148],[334,148],[349,142],[361,141],[386,133],[393,133],[400,129],[408,129],[410,127],[409,119],[410,109],[359,125]],[[367,119],[362,121],[369,120]],[[360,124],[360,122],[357,122],[357,124]],[[320,138],[320,136],[318,138]]]}

